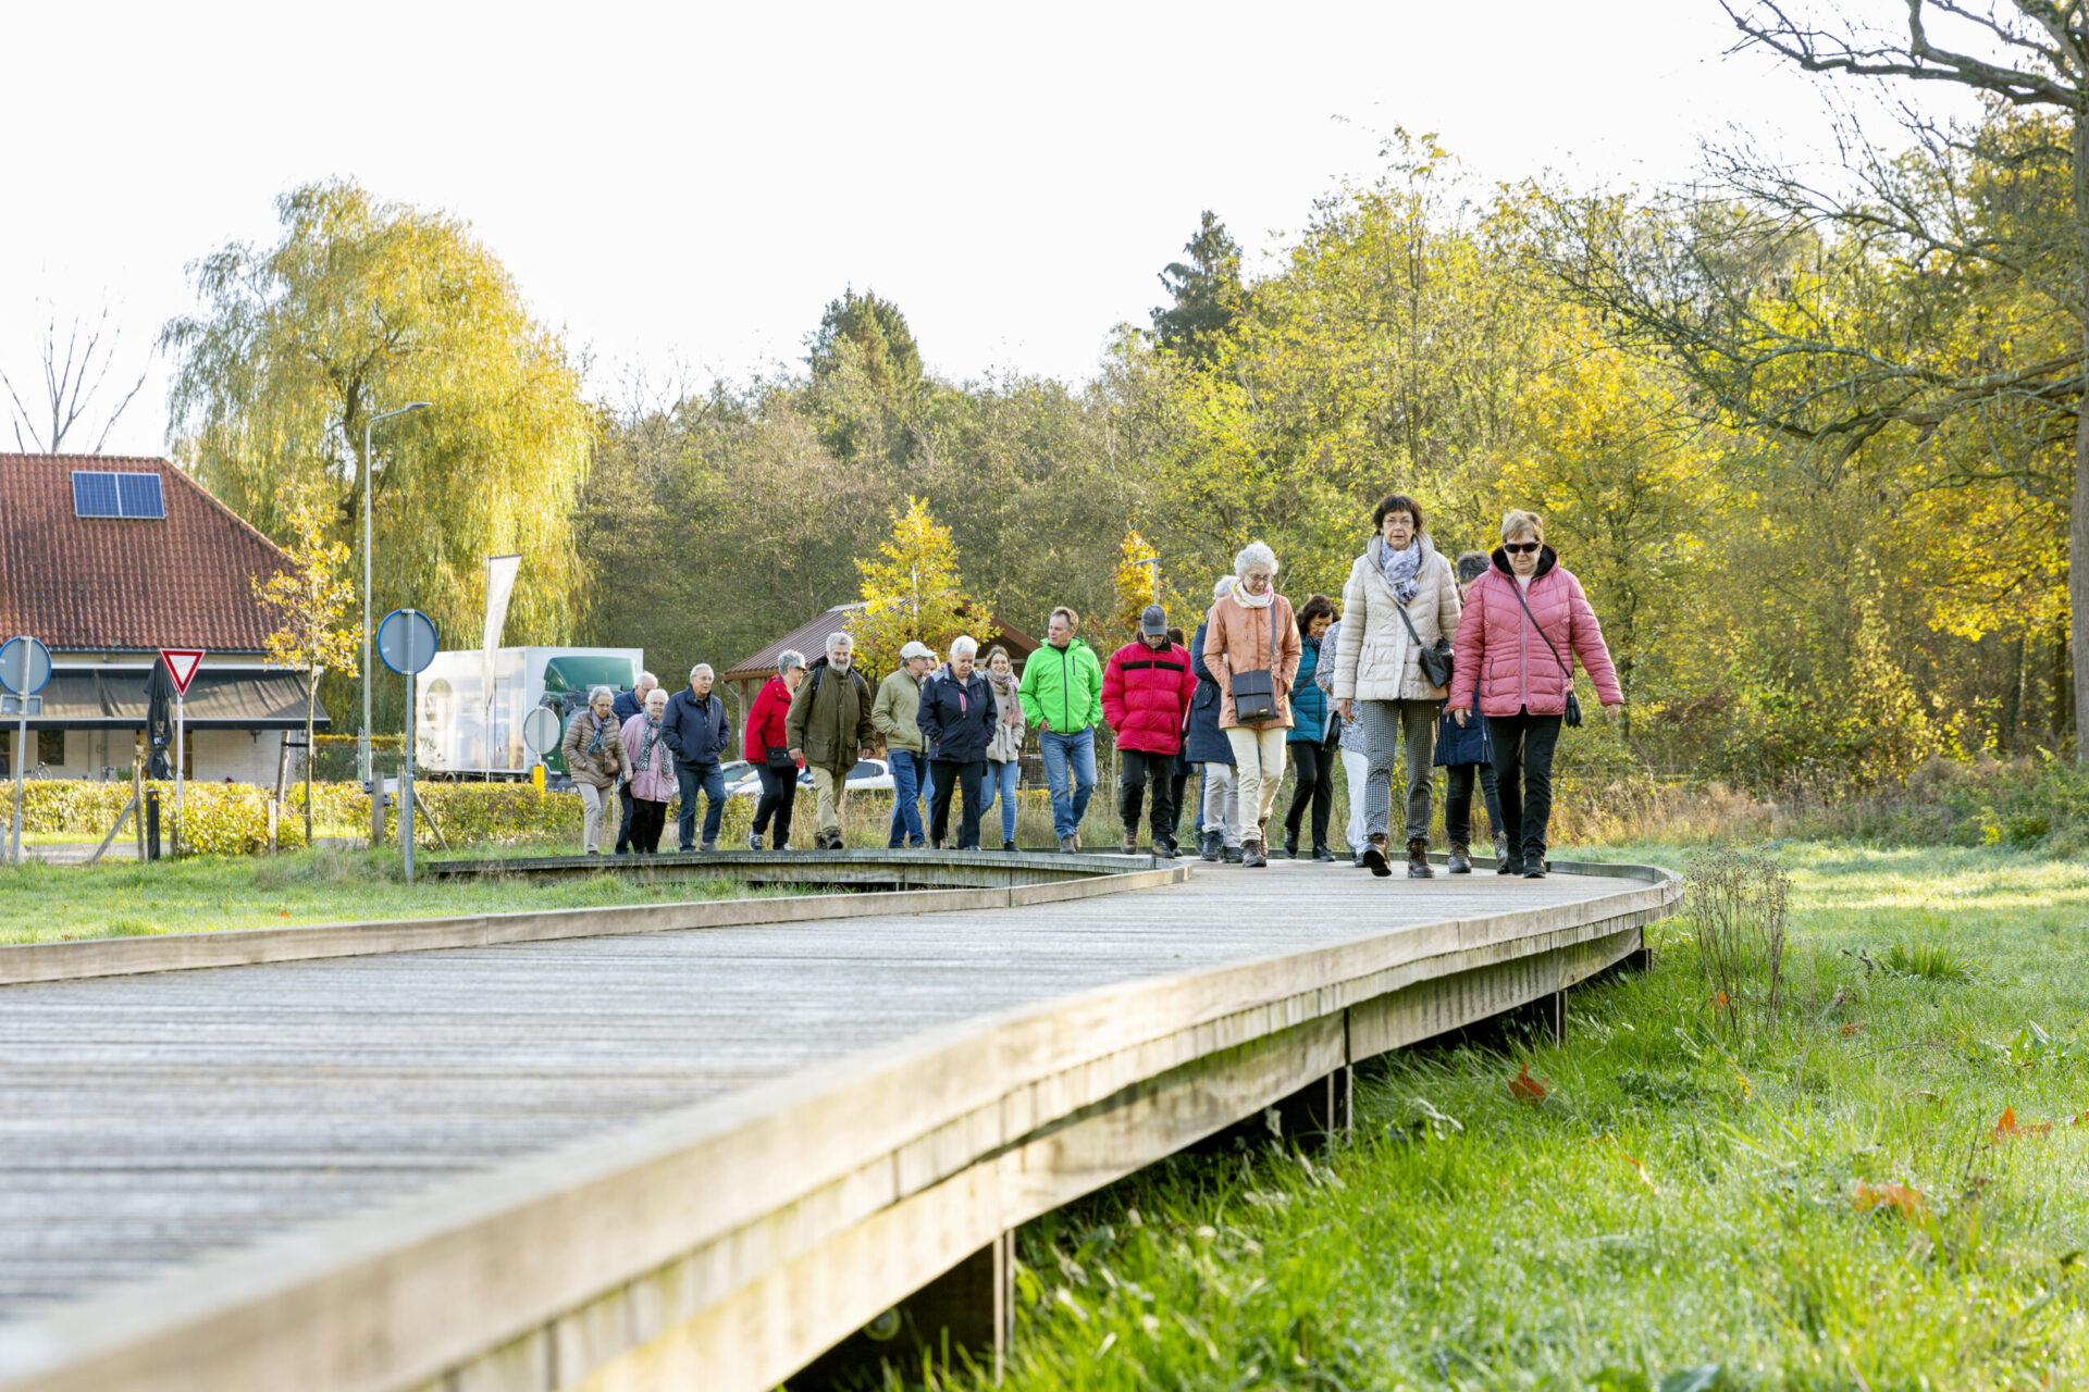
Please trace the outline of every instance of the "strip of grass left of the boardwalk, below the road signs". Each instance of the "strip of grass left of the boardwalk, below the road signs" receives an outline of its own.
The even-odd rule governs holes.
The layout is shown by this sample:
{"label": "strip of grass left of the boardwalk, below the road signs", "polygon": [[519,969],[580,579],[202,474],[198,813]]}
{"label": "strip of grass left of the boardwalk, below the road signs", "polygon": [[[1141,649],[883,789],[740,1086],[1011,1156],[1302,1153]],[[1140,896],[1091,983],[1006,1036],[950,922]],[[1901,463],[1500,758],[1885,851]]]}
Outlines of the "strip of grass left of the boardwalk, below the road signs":
{"label": "strip of grass left of the boardwalk, below the road signs", "polygon": [[616,874],[531,883],[487,879],[407,885],[389,851],[290,851],[267,860],[0,866],[0,943],[209,933],[301,922],[443,918],[610,904],[679,904],[790,893],[729,879],[633,883]]}

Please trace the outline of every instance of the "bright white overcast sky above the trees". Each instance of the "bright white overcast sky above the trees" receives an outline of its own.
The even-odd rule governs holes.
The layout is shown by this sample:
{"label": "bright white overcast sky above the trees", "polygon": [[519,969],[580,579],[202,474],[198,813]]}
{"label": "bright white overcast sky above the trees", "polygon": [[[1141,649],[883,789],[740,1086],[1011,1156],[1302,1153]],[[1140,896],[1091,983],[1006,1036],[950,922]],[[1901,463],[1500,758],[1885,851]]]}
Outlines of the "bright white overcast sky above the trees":
{"label": "bright white overcast sky above the trees", "polygon": [[[136,378],[188,261],[345,175],[470,219],[604,394],[796,359],[848,284],[944,376],[1082,378],[1201,209],[1266,255],[1375,131],[1642,186],[1730,121],[1815,144],[1813,81],[1732,38],[1715,0],[10,4],[0,367],[107,303]],[[165,424],[155,359],[109,449]]]}

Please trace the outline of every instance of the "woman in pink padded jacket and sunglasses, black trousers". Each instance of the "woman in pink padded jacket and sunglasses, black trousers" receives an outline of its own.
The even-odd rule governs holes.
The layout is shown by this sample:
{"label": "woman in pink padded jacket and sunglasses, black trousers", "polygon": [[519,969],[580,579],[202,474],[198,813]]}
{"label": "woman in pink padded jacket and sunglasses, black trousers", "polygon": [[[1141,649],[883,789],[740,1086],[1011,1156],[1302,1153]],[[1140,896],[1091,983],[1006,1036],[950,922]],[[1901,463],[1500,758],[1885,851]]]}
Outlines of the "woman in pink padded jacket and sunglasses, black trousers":
{"label": "woman in pink padded jacket and sunglasses, black trousers", "polygon": [[1494,566],[1464,593],[1454,651],[1452,718],[1464,724],[1477,687],[1494,737],[1494,781],[1508,839],[1508,858],[1496,872],[1544,879],[1552,749],[1573,699],[1573,659],[1581,657],[1604,705],[1623,705],[1625,693],[1617,689],[1596,609],[1546,545],[1538,513],[1512,509],[1502,518]]}

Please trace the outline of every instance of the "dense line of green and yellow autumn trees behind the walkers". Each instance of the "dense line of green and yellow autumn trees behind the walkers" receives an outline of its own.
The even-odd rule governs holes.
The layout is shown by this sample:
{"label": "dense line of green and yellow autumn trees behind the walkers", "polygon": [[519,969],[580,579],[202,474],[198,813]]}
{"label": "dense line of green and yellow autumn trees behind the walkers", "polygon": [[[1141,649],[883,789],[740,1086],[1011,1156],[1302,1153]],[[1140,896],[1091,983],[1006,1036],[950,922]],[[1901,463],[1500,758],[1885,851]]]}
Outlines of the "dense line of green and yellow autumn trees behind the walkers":
{"label": "dense line of green and yellow autumn trees behind the walkers", "polygon": [[[439,332],[474,275],[512,290],[453,223],[307,190],[282,248],[205,263],[207,313],[169,334],[182,451],[263,528],[265,482],[326,482],[351,538],[343,440],[372,394],[470,388],[380,459],[418,509],[380,524],[407,557],[391,593],[470,632],[468,561],[514,545],[535,584],[518,637],[639,645],[666,674],[856,599],[915,503],[967,595],[1032,632],[1055,603],[1124,607],[1130,528],[1189,626],[1249,538],[1304,599],[1337,591],[1383,493],[1421,499],[1448,553],[1521,505],[1625,685],[1588,755],[1882,781],[2074,739],[2072,177],[2064,134],[2003,106],[1878,157],[1832,217],[1738,157],[1690,198],[1625,200],[1483,188],[1402,136],[1258,275],[1205,215],[1161,273],[1172,303],[1120,326],[1088,382],[942,380],[898,305],[848,290],[798,369],[643,409],[587,407],[518,309]],[[366,286],[376,336],[318,334],[372,315],[284,288],[332,223],[372,284],[399,280],[372,242],[393,223],[447,227],[453,269],[403,309]],[[478,459],[506,474],[462,488]]]}

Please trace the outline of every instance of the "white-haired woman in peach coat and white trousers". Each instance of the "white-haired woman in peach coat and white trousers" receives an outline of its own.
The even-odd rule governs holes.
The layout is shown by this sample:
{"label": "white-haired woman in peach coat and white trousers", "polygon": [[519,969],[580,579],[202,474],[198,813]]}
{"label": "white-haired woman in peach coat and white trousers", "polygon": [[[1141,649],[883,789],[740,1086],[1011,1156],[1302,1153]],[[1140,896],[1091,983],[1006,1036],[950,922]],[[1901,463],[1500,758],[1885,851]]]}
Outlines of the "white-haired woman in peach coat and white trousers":
{"label": "white-haired woman in peach coat and white trousers", "polygon": [[1291,682],[1299,643],[1291,601],[1276,593],[1276,553],[1260,541],[1233,557],[1233,589],[1205,620],[1203,664],[1218,680],[1218,728],[1233,745],[1241,781],[1241,864],[1266,866],[1270,808],[1285,781],[1291,735]]}

